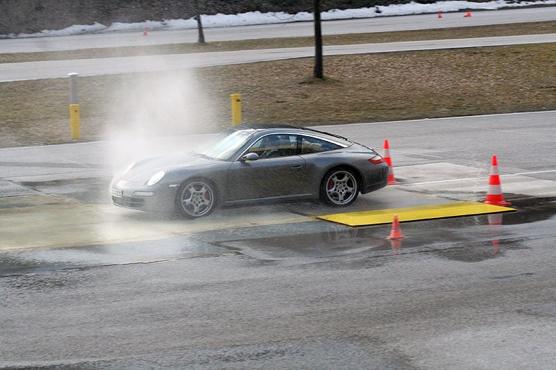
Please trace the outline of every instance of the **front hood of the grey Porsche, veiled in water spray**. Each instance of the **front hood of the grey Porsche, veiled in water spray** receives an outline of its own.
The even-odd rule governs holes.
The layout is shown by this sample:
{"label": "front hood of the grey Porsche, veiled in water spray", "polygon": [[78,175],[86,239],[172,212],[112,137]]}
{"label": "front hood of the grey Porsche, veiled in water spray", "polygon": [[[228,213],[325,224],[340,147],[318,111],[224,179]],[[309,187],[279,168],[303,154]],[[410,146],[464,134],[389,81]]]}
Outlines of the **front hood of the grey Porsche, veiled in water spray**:
{"label": "front hood of the grey Porsche, veiled in water spray", "polygon": [[137,162],[129,171],[120,176],[131,183],[144,182],[158,171],[170,172],[176,169],[197,169],[208,167],[216,162],[210,158],[202,158],[194,153],[165,155]]}

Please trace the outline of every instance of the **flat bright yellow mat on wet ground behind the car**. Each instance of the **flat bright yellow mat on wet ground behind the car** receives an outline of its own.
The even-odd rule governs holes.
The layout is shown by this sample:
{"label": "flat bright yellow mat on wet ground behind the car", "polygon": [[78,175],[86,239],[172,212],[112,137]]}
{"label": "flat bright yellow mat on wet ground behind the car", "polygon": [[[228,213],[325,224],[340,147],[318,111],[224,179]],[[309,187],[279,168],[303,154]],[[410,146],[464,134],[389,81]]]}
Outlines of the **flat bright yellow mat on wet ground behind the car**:
{"label": "flat bright yellow mat on wet ground behind the car", "polygon": [[398,215],[400,222],[403,222],[484,215],[488,213],[509,212],[514,210],[514,208],[502,207],[500,205],[479,202],[458,202],[436,205],[419,205],[417,207],[406,208],[390,208],[388,210],[338,213],[336,215],[317,216],[316,218],[347,226],[367,226],[390,224],[394,215]]}

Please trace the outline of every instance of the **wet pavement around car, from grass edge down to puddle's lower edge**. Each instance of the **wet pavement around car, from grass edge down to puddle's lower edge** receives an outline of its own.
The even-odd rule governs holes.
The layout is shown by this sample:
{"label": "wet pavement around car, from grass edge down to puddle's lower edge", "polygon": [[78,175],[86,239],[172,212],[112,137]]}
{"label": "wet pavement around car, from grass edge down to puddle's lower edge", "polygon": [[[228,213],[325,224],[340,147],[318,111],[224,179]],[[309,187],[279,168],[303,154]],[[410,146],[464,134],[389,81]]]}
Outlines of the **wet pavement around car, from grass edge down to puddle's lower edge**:
{"label": "wet pavement around car, from grass edge down to puddle's lower edge", "polygon": [[[327,258],[360,251],[391,253],[393,248],[402,253],[444,245],[447,249],[450,245],[482,245],[489,243],[494,230],[526,233],[535,221],[553,217],[556,172],[549,148],[549,121],[554,115],[537,112],[324,127],[321,129],[358,137],[379,152],[376,137],[394,131],[393,169],[401,184],[360,196],[347,210],[317,203],[270,205],[216,210],[195,221],[115,208],[108,187],[114,174],[137,155],[190,149],[206,135],[158,137],[134,145],[83,142],[1,149],[0,212],[6,228],[4,240],[0,240],[0,275],[228,253],[260,260]],[[534,166],[532,158],[514,155],[528,148],[528,142],[516,136],[525,126],[527,137],[537,140]],[[452,131],[456,128],[468,139],[455,137]],[[416,138],[427,136],[432,129],[434,149],[418,147]],[[466,145],[477,140],[473,147]],[[311,217],[482,201],[490,169],[486,153],[493,152],[499,153],[505,199],[516,208],[516,212],[500,215],[502,225],[489,225],[491,216],[404,223],[407,237],[400,246],[392,247],[384,239],[389,235],[388,225],[350,228]],[[482,162],[477,158],[483,158]],[[476,260],[485,255],[484,251],[475,253],[478,256],[471,251],[468,254],[459,258]]]}

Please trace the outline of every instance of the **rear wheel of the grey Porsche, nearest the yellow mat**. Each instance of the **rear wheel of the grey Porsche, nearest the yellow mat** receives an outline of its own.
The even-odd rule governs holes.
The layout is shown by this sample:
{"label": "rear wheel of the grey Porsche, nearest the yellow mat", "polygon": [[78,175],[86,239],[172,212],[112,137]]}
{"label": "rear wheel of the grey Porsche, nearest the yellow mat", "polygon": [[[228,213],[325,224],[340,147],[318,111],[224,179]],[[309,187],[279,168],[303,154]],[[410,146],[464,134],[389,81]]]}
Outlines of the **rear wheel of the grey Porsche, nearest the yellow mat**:
{"label": "rear wheel of the grey Porsche, nearest the yellow mat", "polygon": [[352,204],[358,195],[359,181],[351,169],[331,169],[320,183],[320,199],[329,205],[345,207]]}

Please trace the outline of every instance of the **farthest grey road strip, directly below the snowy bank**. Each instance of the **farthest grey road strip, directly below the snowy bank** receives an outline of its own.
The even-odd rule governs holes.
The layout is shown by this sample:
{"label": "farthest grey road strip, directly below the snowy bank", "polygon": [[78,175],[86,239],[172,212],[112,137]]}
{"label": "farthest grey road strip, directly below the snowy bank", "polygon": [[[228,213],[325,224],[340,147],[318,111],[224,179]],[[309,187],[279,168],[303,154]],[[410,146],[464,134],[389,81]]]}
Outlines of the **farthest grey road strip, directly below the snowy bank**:
{"label": "farthest grey road strip, directly below the snowy bank", "polygon": [[[556,20],[556,7],[477,11],[473,12],[473,17],[466,18],[463,17],[464,14],[465,12],[448,13],[443,15],[442,19],[439,19],[436,14],[424,14],[325,21],[322,22],[322,33],[324,35],[338,35],[343,33],[408,31],[553,21]],[[312,22],[295,22],[262,24],[258,26],[206,28],[204,33],[207,42],[217,42],[272,37],[313,36],[314,30]],[[37,51],[179,44],[181,42],[197,42],[197,30],[149,31],[147,37],[142,36],[142,29],[140,29],[135,33],[97,33],[90,35],[3,39],[0,40],[0,53],[32,53]]]}

